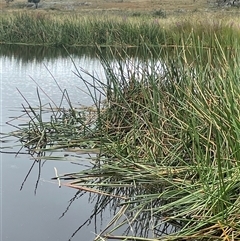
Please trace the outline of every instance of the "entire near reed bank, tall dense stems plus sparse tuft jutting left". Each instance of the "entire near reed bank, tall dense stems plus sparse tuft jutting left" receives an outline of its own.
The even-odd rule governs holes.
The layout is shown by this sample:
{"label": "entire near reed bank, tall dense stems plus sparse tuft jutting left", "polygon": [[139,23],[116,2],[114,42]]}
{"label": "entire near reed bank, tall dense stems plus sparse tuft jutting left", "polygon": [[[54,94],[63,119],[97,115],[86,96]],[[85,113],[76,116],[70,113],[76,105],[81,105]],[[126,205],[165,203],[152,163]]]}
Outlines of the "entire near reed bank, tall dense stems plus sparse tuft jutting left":
{"label": "entire near reed bank, tall dense stems plus sparse tuft jutting left", "polygon": [[[39,158],[61,148],[97,154],[95,166],[67,174],[74,180],[66,185],[101,194],[100,208],[117,203],[101,240],[239,240],[238,36],[217,28],[200,38],[190,26],[185,36],[173,25],[179,45],[146,44],[142,60],[101,58],[107,82],[82,79],[95,87],[93,108],[52,104],[46,122],[46,106],[27,103],[29,123],[12,133]],[[129,235],[114,235],[113,223],[130,227]]]}

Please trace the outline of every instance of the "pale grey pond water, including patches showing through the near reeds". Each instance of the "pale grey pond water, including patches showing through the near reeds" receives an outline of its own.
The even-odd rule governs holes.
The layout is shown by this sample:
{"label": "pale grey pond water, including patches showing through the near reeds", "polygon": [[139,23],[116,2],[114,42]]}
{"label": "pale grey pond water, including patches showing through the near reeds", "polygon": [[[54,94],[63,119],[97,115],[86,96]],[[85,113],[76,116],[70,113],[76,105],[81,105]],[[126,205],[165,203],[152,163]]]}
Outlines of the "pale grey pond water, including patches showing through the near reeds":
{"label": "pale grey pond water, including patches showing through the near reeds", "polygon": [[[15,125],[22,123],[20,119],[12,122],[11,118],[21,115],[22,105],[28,106],[29,103],[31,106],[39,106],[37,87],[41,96],[41,105],[51,102],[59,106],[62,98],[61,90],[64,89],[68,91],[74,106],[93,104],[83,80],[73,72],[82,68],[97,76],[102,82],[105,81],[105,73],[92,51],[85,49],[85,52],[81,50],[76,52],[77,54],[72,55],[72,61],[66,52],[61,52],[59,49],[49,51],[49,49],[44,48],[16,48],[14,46],[9,46],[6,49],[0,46],[0,61],[2,63],[0,66],[1,132],[6,133],[14,130],[12,126],[6,125],[6,122]],[[116,75],[121,75],[123,70],[126,80],[131,79],[132,75],[141,80],[144,77],[144,71],[151,73],[154,70],[154,73],[158,74],[162,72],[162,63],[158,60],[157,64],[153,65],[157,66],[157,69],[149,69],[148,62],[138,62],[138,58],[135,56],[128,59],[129,62],[123,64],[123,68],[118,66],[118,61],[122,61],[122,58],[118,61],[110,60],[111,69],[116,72]],[[83,79],[91,82],[90,75],[86,74],[85,71],[81,72]],[[64,106],[68,108],[67,102],[64,103]],[[25,150],[21,150],[17,156],[14,154],[20,148],[18,142],[3,142],[1,145],[2,148],[10,145],[11,149],[2,149],[2,152],[7,151],[12,154],[1,154],[0,240],[67,241],[78,227],[88,220],[93,209],[96,208],[96,204],[99,205],[97,206],[99,210],[103,210],[104,215],[98,215],[90,225],[83,226],[72,240],[93,240],[100,229],[105,228],[112,216],[109,205],[105,205],[105,197],[97,203],[96,199],[92,201],[92,198],[89,202],[89,195],[86,194],[76,199],[65,215],[59,219],[67,209],[69,201],[76,194],[76,190],[64,186],[58,188],[58,183],[51,180],[55,176],[54,169],[58,170],[58,174],[80,171],[90,165],[87,156],[83,155],[81,158],[77,158],[78,160],[74,159],[78,164],[82,164],[81,166],[72,164],[69,159],[41,161],[39,165],[29,155],[21,154]],[[63,152],[58,153],[58,155],[64,157]],[[35,165],[30,172],[33,163]],[[28,175],[28,173],[30,174]],[[24,181],[26,176],[28,178]],[[23,182],[24,185],[21,189]],[[36,186],[37,193],[35,194]],[[134,188],[132,193],[135,191]],[[116,200],[111,204],[113,205],[112,212],[118,210]],[[126,215],[134,214],[128,213]],[[151,213],[140,217],[140,221],[136,222],[136,225],[127,222],[114,234],[122,235],[128,229],[131,236],[148,236],[149,228],[147,225],[150,218]],[[123,215],[119,222],[124,221],[124,219],[128,220],[128,217]],[[160,220],[158,217],[156,219],[157,222],[158,219]],[[161,223],[161,220],[159,222]],[[95,230],[95,227],[98,229]],[[168,231],[169,228],[165,228],[165,230]],[[150,230],[150,232],[152,231]],[[160,229],[160,231],[154,230],[154,232],[161,233],[162,231]]]}

